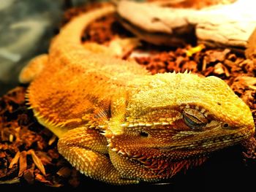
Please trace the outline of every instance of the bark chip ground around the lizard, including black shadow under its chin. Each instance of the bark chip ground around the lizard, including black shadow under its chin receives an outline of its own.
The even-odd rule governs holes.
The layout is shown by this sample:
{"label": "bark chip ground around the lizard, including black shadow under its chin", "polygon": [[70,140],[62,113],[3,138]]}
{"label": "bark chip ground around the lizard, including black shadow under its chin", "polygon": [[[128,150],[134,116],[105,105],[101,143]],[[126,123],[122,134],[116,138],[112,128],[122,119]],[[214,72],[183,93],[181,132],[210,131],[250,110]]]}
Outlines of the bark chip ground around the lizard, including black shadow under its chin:
{"label": "bark chip ground around the lizard, including black shadow under its chin", "polygon": [[[99,7],[70,9],[66,12],[64,23],[75,15],[88,9]],[[132,37],[121,27],[116,15],[91,23],[83,41],[107,44],[116,36]],[[138,64],[146,67],[152,74],[163,72],[189,71],[203,75],[215,75],[225,80],[233,91],[249,105],[256,118],[256,64],[236,55],[228,49],[213,50],[198,45],[192,47],[156,47],[141,42],[137,52],[147,51],[149,55],[133,56]],[[126,55],[129,58],[129,55]],[[41,126],[34,118],[32,110],[26,104],[27,85],[20,85],[0,98],[0,188],[29,187],[36,188],[117,188],[131,190],[136,188],[167,189],[170,191],[246,189],[252,185],[255,174],[255,155],[246,155],[241,145],[229,147],[211,155],[205,164],[181,172],[165,185],[142,183],[136,186],[114,187],[91,180],[76,171],[58,153],[58,139]],[[244,152],[244,154],[243,154]],[[42,163],[42,164],[40,164]],[[44,170],[45,173],[44,173]],[[250,184],[251,183],[251,184]]]}

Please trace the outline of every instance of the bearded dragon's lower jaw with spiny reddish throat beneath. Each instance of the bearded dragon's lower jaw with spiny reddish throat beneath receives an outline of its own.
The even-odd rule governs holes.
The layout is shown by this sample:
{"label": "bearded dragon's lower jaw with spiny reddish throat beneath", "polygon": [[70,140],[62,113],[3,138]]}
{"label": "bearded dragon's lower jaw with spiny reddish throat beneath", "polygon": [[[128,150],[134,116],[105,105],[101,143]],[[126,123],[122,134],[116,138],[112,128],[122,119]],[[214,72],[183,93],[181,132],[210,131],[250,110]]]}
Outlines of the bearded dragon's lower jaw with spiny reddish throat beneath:
{"label": "bearded dragon's lower jaw with spiny reddish throat beneath", "polygon": [[122,147],[110,142],[110,160],[124,177],[157,182],[173,177],[181,169],[186,170],[190,166],[203,164],[212,151],[235,145],[251,137],[254,128],[244,127],[231,132],[233,133],[222,137],[199,139],[186,145],[179,142],[176,147]]}

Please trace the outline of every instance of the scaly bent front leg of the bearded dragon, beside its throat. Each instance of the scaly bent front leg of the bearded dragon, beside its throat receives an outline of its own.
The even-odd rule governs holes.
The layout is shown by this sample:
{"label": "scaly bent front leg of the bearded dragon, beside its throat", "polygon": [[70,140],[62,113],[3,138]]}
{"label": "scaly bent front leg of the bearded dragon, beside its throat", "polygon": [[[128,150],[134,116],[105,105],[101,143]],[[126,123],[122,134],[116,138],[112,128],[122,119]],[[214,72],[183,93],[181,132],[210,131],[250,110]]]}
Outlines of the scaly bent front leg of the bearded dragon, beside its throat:
{"label": "scaly bent front leg of the bearded dragon, beside its throat", "polygon": [[114,185],[138,183],[137,180],[121,178],[106,155],[107,140],[99,131],[75,128],[67,131],[58,142],[58,150],[64,158],[81,173],[95,180]]}

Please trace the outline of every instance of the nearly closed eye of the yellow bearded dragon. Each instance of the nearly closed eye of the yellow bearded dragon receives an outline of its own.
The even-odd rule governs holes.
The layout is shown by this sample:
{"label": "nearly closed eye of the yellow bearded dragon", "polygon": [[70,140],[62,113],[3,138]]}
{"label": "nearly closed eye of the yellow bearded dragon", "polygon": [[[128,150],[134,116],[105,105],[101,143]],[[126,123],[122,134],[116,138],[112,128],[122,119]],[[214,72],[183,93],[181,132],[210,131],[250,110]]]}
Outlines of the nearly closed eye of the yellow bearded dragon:
{"label": "nearly closed eye of the yellow bearded dragon", "polygon": [[208,120],[203,113],[195,109],[184,109],[182,116],[184,123],[193,130],[200,129],[208,123]]}

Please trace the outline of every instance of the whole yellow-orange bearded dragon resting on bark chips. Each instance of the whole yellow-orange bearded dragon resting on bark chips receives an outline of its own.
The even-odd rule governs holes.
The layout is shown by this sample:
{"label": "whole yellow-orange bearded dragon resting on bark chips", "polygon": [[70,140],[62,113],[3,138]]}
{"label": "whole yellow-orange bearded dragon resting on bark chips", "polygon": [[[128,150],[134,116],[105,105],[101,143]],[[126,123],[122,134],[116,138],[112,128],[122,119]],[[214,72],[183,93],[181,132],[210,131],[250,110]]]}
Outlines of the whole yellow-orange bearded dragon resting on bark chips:
{"label": "whole yellow-orange bearded dragon resting on bark chips", "polygon": [[59,137],[72,166],[115,185],[158,182],[252,137],[249,107],[218,77],[151,75],[135,61],[86,50],[83,30],[112,12],[107,6],[71,20],[48,55],[20,74],[31,80],[35,117]]}

